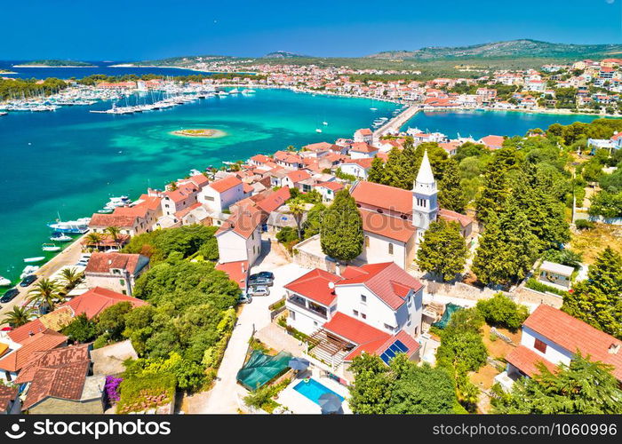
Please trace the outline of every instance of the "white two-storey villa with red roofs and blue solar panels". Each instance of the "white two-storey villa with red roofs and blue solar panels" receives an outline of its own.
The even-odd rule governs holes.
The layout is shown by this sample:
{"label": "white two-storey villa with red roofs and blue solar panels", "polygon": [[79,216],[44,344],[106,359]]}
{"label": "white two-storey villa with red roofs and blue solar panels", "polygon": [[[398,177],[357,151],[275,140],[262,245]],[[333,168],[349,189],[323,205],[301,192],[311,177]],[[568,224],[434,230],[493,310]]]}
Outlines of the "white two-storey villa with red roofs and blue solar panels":
{"label": "white two-storey villa with red roofs and blue solar panels", "polygon": [[[284,286],[287,323],[310,335],[313,356],[346,379],[342,364],[361,353],[387,362],[395,353],[419,359],[423,285],[392,262],[347,266],[342,274],[315,269]],[[396,341],[399,350],[388,351]]]}

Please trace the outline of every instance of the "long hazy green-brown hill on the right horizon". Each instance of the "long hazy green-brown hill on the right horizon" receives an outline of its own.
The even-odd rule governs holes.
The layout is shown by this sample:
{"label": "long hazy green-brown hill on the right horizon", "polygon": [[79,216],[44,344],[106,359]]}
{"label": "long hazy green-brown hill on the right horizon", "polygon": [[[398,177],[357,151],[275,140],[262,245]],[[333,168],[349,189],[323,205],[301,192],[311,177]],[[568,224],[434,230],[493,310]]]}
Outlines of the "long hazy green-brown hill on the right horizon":
{"label": "long hazy green-brown hill on the right horizon", "polygon": [[622,56],[622,44],[551,44],[522,39],[471,46],[428,46],[414,51],[386,51],[367,56],[370,59],[498,59],[498,58],[551,58],[602,59]]}

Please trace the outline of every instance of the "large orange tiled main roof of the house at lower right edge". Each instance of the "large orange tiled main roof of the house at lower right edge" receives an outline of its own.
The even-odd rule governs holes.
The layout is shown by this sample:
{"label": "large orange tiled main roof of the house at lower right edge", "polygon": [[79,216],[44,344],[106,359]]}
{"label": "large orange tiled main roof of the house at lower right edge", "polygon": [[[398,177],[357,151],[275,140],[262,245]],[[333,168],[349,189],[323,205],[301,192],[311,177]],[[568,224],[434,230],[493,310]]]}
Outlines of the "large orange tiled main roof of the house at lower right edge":
{"label": "large orange tiled main roof of the house at lower right edge", "polygon": [[[562,346],[570,353],[589,354],[593,361],[612,365],[613,374],[622,380],[622,341],[594,329],[584,321],[573,318],[549,305],[540,304],[522,324]],[[618,345],[618,353],[610,353],[610,346]]]}

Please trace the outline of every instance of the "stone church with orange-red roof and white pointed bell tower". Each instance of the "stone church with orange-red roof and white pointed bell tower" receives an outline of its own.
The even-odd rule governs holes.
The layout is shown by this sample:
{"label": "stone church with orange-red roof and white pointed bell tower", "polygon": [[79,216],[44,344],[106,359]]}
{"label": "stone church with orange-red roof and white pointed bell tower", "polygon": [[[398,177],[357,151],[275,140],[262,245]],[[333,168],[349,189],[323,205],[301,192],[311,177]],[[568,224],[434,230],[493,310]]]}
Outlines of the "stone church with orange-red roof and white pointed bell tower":
{"label": "stone church with orange-red roof and white pointed bell tower", "polygon": [[458,222],[467,241],[473,237],[472,218],[439,208],[427,152],[411,190],[359,181],[350,194],[363,218],[365,241],[358,259],[365,262],[393,261],[403,269],[410,267],[427,228],[437,218]]}

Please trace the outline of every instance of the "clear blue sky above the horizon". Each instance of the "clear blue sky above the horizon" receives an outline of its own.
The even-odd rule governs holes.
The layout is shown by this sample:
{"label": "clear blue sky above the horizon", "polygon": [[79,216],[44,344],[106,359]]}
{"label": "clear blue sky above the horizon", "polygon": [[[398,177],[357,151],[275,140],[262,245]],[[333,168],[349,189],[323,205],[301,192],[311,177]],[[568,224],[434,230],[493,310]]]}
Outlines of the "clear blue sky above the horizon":
{"label": "clear blue sky above the horizon", "polygon": [[20,0],[2,12],[0,59],[355,57],[515,38],[622,41],[622,0]]}

